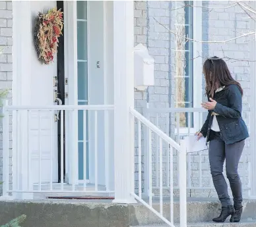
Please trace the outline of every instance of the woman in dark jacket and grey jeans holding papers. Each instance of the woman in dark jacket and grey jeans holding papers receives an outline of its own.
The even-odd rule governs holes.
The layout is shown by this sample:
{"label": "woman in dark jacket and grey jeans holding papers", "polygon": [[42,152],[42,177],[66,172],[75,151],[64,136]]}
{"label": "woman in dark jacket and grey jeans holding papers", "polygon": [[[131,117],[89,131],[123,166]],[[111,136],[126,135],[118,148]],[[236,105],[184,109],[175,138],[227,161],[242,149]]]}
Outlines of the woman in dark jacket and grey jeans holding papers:
{"label": "woman in dark jacket and grey jeans holding papers", "polygon": [[[226,62],[216,56],[205,61],[203,73],[208,102],[201,105],[208,110],[208,116],[197,135],[198,139],[204,136],[207,142],[210,141],[210,172],[222,204],[220,216],[212,220],[224,222],[231,215],[230,222],[240,222],[243,197],[238,163],[245,139],[249,136],[241,117],[243,89],[240,83],[232,78]],[[222,174],[225,159],[234,205],[228,195],[228,186]]]}

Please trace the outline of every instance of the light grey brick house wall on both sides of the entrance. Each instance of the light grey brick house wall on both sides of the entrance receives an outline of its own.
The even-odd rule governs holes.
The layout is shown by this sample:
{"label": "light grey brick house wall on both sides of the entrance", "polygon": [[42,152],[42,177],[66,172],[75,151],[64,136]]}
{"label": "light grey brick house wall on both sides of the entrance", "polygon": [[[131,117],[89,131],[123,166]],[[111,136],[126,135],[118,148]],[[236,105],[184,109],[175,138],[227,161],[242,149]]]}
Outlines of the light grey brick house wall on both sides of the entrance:
{"label": "light grey brick house wall on both sides of the entrance", "polygon": [[[249,31],[249,19],[245,19],[245,14],[241,9],[237,7],[227,7],[232,3],[228,1],[203,1],[203,37],[204,40],[224,40],[230,39],[239,35],[241,32]],[[143,43],[148,47],[148,51],[152,57],[154,57],[154,82],[155,86],[149,87],[146,91],[135,91],[135,108],[140,113],[143,113],[143,109],[146,105],[150,108],[162,108],[162,107],[175,107],[174,106],[174,94],[176,91],[175,74],[176,74],[176,61],[175,52],[176,49],[176,36],[171,35],[168,29],[175,30],[175,13],[174,9],[184,5],[184,1],[135,1],[134,9],[134,32],[135,32],[135,45]],[[214,7],[214,9],[212,9]],[[181,22],[184,20],[184,10],[181,9],[176,12]],[[0,88],[9,88],[12,86],[12,26],[13,26],[13,13],[11,1],[0,1]],[[166,26],[158,24],[156,20]],[[247,60],[249,58],[249,42],[247,38],[236,39],[226,44],[203,44],[203,58],[205,61],[207,57],[217,55],[223,57],[223,51],[227,57],[234,59]],[[230,70],[236,78],[241,82],[244,89],[243,95],[243,109],[249,109],[249,96],[251,94],[250,88],[250,65],[246,61],[232,61],[228,62]],[[203,81],[204,84],[204,81]],[[202,94],[204,94],[205,87],[202,88]],[[11,99],[11,95],[9,96]],[[203,96],[203,99],[205,97]],[[144,114],[144,113],[143,113]],[[146,115],[154,124],[169,134],[172,138],[177,139],[175,134],[175,116],[174,114],[150,114]],[[244,113],[245,122],[249,126],[249,113]],[[2,139],[2,125],[0,125],[0,140]],[[11,129],[11,127],[10,127]],[[11,130],[10,130],[11,132]],[[143,189],[144,189],[144,168],[146,157],[146,140],[145,130],[142,128],[142,162],[143,162]],[[11,136],[11,135],[10,135]],[[139,180],[139,164],[138,164],[138,124],[135,122],[135,188],[138,189]],[[152,183],[154,192],[158,193],[158,139],[156,135],[152,134]],[[246,186],[249,182],[248,179],[248,161],[250,159],[250,140],[247,139],[245,151],[240,163],[240,174],[243,177],[243,186]],[[168,145],[163,143],[163,180],[164,186],[169,185],[169,167],[168,167]],[[0,144],[0,181],[2,180],[2,140]],[[202,167],[202,186],[211,186],[211,177],[208,166],[207,152],[199,154],[192,154],[188,159],[191,160],[191,175],[188,176],[191,180],[191,186],[200,186],[200,166]],[[201,160],[201,163],[200,163]],[[174,151],[174,187],[177,187],[177,152]],[[189,183],[189,182],[188,182]],[[1,186],[0,186],[1,187]],[[244,187],[245,188],[245,187]],[[1,191],[1,188],[0,188]],[[165,191],[168,194],[168,190]],[[216,193],[213,189],[188,189],[188,196],[191,197],[216,197]],[[179,191],[175,191],[175,196],[179,195]]]}

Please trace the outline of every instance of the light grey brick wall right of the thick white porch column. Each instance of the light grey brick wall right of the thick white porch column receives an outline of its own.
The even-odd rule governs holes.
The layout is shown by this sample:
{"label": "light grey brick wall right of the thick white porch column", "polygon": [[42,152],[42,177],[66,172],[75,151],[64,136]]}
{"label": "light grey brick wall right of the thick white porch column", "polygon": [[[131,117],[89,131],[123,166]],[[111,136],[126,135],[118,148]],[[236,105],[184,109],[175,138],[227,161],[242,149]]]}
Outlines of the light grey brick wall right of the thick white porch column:
{"label": "light grey brick wall right of the thick white porch column", "polygon": [[[141,3],[141,2],[140,2]],[[143,18],[141,12],[136,11],[135,3],[135,23],[137,21],[141,22],[142,20],[137,20],[137,17]],[[144,9],[147,12],[147,24],[141,23],[141,28],[147,28],[146,37],[139,36],[141,33],[141,28],[137,28],[138,24],[135,26],[135,36],[139,37],[135,39],[137,43],[139,43],[139,39],[143,40],[143,43],[146,42],[146,46],[148,47],[148,51],[152,57],[155,59],[155,86],[152,86],[147,89],[143,95],[135,92],[135,97],[139,97],[135,101],[135,107],[141,111],[141,107],[146,105],[145,101],[148,101],[148,106],[152,108],[160,108],[160,107],[175,107],[175,91],[176,91],[176,82],[175,82],[175,74],[176,74],[176,61],[175,61],[175,49],[176,49],[176,36],[170,34],[166,28],[163,28],[160,24],[158,24],[156,20],[164,24],[167,28],[175,30],[174,24],[177,23],[177,18],[179,20],[183,20],[184,18],[184,9],[179,9],[176,11],[177,14],[174,13],[174,9],[182,7],[184,5],[184,1],[146,1],[141,3],[144,5]],[[224,7],[230,5],[228,1],[203,1],[203,26],[202,26],[202,39],[205,41],[216,39],[216,40],[224,40],[229,38],[234,38],[234,36],[239,35],[241,32],[246,32],[249,30],[249,22],[244,18],[247,15],[239,9],[239,7],[231,7],[228,9],[224,9]],[[215,9],[215,8],[216,9]],[[214,8],[214,9],[212,9]],[[154,17],[154,18],[153,18]],[[248,59],[249,58],[249,42],[245,39],[237,39],[236,41],[232,41],[226,44],[202,44],[202,63],[204,63],[207,57],[212,55],[217,55],[218,57],[223,57],[222,49],[226,56],[231,58],[238,59]],[[236,80],[241,82],[241,86],[244,89],[243,96],[243,109],[249,108],[249,95],[250,95],[250,76],[249,70],[250,66],[245,61],[237,61],[232,63],[232,61],[228,61],[228,66],[230,70],[236,78]],[[203,86],[202,86],[202,96],[203,100],[205,97],[205,79],[203,78]],[[249,126],[249,113],[244,113],[243,118],[245,118],[245,122]],[[206,117],[206,116],[205,116]],[[156,115],[151,114],[150,120],[156,124]],[[202,122],[203,123],[203,122]],[[174,139],[176,135],[174,134],[175,128],[175,118],[174,114],[170,114],[167,116],[165,114],[159,114],[158,116],[158,126],[164,132],[169,133],[170,136]],[[135,132],[136,133],[136,132]],[[135,134],[137,136],[137,134]],[[157,140],[153,135],[152,142],[152,182],[153,186],[156,186],[156,143]],[[249,139],[247,139],[245,151],[243,153],[243,158],[240,163],[240,174],[245,177],[244,186],[248,183],[248,170],[243,171],[243,166],[246,168],[248,166],[247,161],[249,160]],[[167,182],[167,166],[166,166],[166,147],[164,147],[164,186]],[[198,154],[191,155],[191,185],[199,186],[199,160],[200,157]],[[177,152],[174,151],[174,185],[177,186]],[[203,170],[203,179],[202,184],[205,187],[209,187],[211,184],[211,176],[208,166],[208,155],[207,152],[202,154],[202,170]],[[158,190],[155,190],[158,193]],[[168,193],[168,191],[166,191]],[[176,191],[176,195],[178,195],[178,191]],[[212,189],[204,189],[204,190],[188,190],[188,195],[191,197],[216,197],[216,193]]]}

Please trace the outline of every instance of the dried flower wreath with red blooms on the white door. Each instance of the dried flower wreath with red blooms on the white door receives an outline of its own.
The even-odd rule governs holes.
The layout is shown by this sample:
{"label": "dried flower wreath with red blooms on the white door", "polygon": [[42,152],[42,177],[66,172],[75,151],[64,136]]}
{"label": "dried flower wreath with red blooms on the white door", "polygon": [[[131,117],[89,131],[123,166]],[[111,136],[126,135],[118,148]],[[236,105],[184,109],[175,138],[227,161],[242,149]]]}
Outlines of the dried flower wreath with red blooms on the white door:
{"label": "dried flower wreath with red blooms on the white door", "polygon": [[34,45],[41,63],[49,64],[57,53],[59,36],[62,35],[63,12],[57,8],[48,13],[38,13],[34,28]]}

